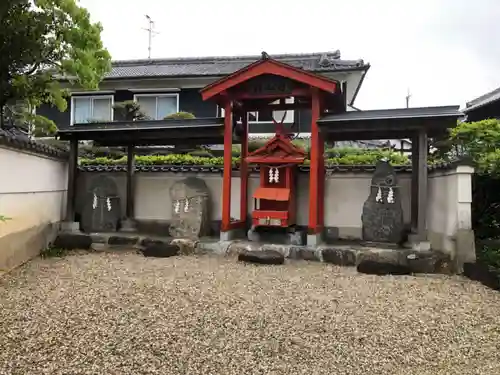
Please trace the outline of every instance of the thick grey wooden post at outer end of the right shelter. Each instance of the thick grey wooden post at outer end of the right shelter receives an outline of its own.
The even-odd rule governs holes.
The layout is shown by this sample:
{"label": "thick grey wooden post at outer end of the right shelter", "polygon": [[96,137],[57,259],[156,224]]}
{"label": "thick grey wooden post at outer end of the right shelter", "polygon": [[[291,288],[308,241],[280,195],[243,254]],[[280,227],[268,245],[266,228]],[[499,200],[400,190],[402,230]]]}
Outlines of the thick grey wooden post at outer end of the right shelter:
{"label": "thick grey wooden post at outer end of the right shelter", "polygon": [[417,235],[420,241],[427,241],[427,153],[426,129],[418,132],[418,222]]}

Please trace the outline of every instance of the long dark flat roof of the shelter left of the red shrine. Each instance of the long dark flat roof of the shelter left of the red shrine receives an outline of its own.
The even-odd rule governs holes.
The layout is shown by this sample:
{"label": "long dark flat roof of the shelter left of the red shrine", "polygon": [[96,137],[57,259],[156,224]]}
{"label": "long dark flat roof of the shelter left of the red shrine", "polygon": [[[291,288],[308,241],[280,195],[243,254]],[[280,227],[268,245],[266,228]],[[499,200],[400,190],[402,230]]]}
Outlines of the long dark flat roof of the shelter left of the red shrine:
{"label": "long dark flat roof of the shelter left of the red shrine", "polygon": [[219,144],[223,143],[224,118],[115,121],[74,124],[60,129],[62,140],[93,140],[103,146]]}

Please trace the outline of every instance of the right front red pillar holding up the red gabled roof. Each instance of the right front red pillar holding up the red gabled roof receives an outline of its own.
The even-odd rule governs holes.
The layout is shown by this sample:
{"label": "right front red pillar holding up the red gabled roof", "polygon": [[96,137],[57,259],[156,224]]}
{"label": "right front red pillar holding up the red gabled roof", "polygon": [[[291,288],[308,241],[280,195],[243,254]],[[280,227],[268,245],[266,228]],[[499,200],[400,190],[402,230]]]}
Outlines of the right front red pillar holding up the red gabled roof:
{"label": "right front red pillar holding up the red gabled roof", "polygon": [[[320,194],[319,187],[321,185],[321,169],[320,163],[322,159],[322,145],[317,121],[320,116],[320,97],[319,91],[316,88],[312,89],[312,106],[311,106],[311,164],[309,172],[309,224],[308,234],[318,234],[320,228]],[[323,210],[323,208],[321,208]]]}

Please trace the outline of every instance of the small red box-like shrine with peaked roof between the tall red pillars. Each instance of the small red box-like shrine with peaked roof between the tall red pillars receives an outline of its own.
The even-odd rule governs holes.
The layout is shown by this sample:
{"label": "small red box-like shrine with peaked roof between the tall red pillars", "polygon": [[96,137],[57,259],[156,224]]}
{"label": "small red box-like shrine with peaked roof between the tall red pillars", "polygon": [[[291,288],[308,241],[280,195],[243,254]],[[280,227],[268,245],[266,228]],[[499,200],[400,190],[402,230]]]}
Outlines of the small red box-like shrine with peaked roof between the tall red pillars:
{"label": "small red box-like shrine with peaked roof between the tall red pillars", "polygon": [[253,193],[252,226],[287,228],[297,218],[297,165],[306,154],[278,127],[276,135],[246,158],[260,167],[260,186]]}

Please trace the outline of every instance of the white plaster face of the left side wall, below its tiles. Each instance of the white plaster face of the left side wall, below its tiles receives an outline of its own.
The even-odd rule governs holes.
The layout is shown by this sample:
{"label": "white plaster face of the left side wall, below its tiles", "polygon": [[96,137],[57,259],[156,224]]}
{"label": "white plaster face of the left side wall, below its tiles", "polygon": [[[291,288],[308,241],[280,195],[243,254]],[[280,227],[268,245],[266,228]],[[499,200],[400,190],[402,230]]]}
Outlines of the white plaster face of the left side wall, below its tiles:
{"label": "white plaster face of the left side wall, below its tiles", "polygon": [[0,236],[62,219],[67,164],[0,146]]}

